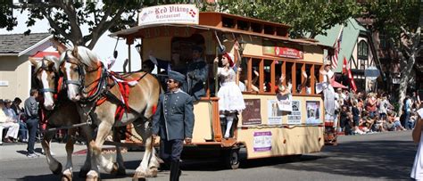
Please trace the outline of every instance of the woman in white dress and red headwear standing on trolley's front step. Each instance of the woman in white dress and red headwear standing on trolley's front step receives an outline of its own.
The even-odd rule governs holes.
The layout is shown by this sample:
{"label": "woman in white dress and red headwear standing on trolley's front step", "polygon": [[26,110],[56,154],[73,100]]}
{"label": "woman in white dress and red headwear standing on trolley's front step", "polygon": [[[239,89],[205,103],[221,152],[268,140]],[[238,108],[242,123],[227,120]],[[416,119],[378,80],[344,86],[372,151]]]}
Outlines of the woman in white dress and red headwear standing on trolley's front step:
{"label": "woman in white dress and red headwear standing on trolley's front step", "polygon": [[[220,89],[218,91],[218,97],[220,98],[220,117],[226,117],[227,119],[225,138],[230,136],[230,130],[236,114],[245,109],[244,97],[239,86],[236,85],[236,73],[233,69],[233,60],[234,55],[231,53],[224,53],[221,59],[223,67],[219,68],[217,72],[220,78]],[[219,62],[219,58],[216,57],[214,62]]]}

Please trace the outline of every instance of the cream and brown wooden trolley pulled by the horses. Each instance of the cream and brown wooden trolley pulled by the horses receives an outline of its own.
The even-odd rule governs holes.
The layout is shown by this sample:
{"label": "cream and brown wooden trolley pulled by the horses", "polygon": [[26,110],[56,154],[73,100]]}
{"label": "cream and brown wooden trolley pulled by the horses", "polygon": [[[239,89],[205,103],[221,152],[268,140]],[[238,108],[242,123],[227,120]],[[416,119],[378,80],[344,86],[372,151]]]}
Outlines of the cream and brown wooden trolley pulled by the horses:
{"label": "cream and brown wooden trolley pulled by the horses", "polygon": [[[143,9],[139,26],[112,37],[125,38],[128,45],[140,43],[141,59],[129,62],[153,56],[169,61],[173,68],[187,67],[192,47],[203,48],[209,66],[206,95],[194,104],[193,144],[185,146],[183,157],[221,156],[228,168],[236,169],[241,148],[247,159],[257,159],[319,152],[324,145],[323,100],[315,85],[323,80],[319,70],[325,50],[331,47],[313,39],[289,38],[288,29],[285,24],[171,4]],[[246,106],[227,138],[216,96],[220,82],[213,74],[219,66],[213,60],[225,52],[235,55],[236,84]],[[156,72],[161,79],[161,70]],[[280,94],[280,89],[288,94]],[[127,143],[139,143],[134,136],[128,136]]]}

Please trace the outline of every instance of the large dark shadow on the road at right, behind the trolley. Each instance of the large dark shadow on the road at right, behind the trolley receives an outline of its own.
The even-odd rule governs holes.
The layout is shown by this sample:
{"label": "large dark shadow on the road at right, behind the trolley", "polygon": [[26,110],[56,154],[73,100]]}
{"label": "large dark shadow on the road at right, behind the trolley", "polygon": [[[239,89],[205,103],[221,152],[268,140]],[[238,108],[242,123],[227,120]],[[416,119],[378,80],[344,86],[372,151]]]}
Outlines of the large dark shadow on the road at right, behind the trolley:
{"label": "large dark shadow on the road at right, behind the trolley", "polygon": [[274,167],[352,177],[410,179],[416,150],[410,141],[354,142],[324,147],[320,153],[330,155],[325,159],[310,161],[310,156],[303,156],[301,161]]}

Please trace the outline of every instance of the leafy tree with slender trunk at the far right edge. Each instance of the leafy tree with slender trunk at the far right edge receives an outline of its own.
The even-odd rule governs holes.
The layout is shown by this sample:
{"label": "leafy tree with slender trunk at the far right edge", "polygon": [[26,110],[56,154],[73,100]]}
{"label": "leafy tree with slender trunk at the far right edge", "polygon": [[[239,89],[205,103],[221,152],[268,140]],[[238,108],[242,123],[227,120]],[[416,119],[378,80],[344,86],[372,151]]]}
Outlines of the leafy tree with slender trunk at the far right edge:
{"label": "leafy tree with slender trunk at the far right edge", "polygon": [[365,17],[373,20],[373,32],[379,32],[392,43],[392,50],[401,66],[398,100],[400,113],[411,70],[421,56],[420,29],[423,26],[423,1],[383,1],[363,4]]}

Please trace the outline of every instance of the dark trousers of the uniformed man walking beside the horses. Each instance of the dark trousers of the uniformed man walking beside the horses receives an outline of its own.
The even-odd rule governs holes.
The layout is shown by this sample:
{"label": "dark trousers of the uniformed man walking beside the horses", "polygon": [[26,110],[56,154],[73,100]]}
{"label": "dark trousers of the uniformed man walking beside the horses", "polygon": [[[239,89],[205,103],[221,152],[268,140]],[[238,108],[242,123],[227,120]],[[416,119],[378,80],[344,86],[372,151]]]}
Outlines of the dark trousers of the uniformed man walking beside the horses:
{"label": "dark trousers of the uniformed man walking beside the horses", "polygon": [[180,154],[184,148],[184,141],[181,139],[176,140],[161,140],[160,144],[160,157],[165,162],[180,160]]}

